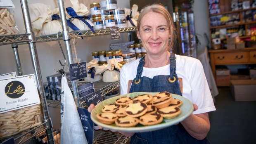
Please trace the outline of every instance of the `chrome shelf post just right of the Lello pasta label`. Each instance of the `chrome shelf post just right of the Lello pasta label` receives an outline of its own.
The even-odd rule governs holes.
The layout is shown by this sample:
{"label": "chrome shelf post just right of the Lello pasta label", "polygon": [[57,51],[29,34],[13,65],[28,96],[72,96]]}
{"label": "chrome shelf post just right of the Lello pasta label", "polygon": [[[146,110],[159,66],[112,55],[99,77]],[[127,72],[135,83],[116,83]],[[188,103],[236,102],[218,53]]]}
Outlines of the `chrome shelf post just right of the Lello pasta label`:
{"label": "chrome shelf post just right of the Lello pasta label", "polygon": [[31,60],[32,60],[35,77],[36,77],[38,91],[40,93],[41,100],[42,100],[43,121],[47,122],[47,123],[45,123],[45,126],[47,126],[47,129],[46,129],[47,138],[48,138],[49,144],[54,144],[54,139],[53,139],[53,135],[52,135],[52,121],[49,116],[48,106],[47,106],[47,102],[46,102],[46,98],[45,98],[45,93],[43,90],[43,80],[42,80],[42,76],[41,76],[38,55],[37,55],[37,50],[36,50],[36,38],[35,38],[35,34],[32,29],[32,23],[31,23],[29,9],[28,9],[28,2],[27,2],[27,0],[20,0],[20,2],[21,2],[22,13],[24,16],[23,18],[24,18],[26,33],[30,33],[28,38],[31,39],[31,42],[28,42],[28,45],[29,45],[29,51],[31,54]]}

